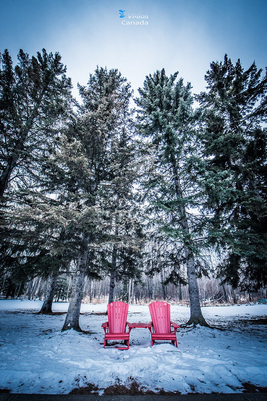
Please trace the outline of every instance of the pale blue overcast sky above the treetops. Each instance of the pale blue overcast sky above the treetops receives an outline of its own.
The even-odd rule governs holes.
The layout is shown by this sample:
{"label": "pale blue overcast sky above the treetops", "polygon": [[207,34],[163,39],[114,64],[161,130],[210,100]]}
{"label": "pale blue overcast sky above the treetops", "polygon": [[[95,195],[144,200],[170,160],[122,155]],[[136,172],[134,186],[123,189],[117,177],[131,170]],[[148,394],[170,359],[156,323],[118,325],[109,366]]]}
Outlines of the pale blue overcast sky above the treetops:
{"label": "pale blue overcast sky above the treetops", "polygon": [[[131,14],[148,25],[123,25]],[[1,52],[16,62],[20,48],[59,51],[74,88],[97,65],[118,68],[133,89],[157,69],[178,70],[193,93],[225,53],[244,68],[267,65],[267,0],[0,0],[0,15]]]}

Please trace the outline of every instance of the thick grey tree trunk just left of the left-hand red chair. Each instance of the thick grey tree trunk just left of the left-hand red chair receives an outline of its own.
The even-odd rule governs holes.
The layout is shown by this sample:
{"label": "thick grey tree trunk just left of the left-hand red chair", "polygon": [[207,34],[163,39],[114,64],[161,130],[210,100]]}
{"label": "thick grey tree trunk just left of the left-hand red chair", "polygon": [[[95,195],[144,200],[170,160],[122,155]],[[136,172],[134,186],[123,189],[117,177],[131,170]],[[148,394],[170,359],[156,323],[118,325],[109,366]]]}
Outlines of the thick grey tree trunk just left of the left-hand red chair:
{"label": "thick grey tree trunk just left of the left-hand red chair", "polygon": [[64,325],[62,327],[62,331],[73,329],[78,332],[82,332],[79,324],[79,317],[83,297],[84,278],[88,260],[88,244],[89,239],[86,237],[83,239],[83,248],[81,250],[80,258],[77,263],[76,271],[74,273],[68,312]]}

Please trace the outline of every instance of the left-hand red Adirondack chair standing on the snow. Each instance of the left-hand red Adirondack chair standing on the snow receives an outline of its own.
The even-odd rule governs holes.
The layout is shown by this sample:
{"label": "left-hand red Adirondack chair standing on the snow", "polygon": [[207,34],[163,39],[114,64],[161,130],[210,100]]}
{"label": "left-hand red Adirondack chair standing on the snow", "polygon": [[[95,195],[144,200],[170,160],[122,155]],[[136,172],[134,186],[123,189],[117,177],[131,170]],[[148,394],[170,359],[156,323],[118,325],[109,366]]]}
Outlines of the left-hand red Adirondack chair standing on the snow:
{"label": "left-hand red Adirondack chair standing on the snow", "polygon": [[128,350],[130,342],[130,333],[126,332],[127,313],[129,305],[124,302],[111,302],[107,305],[108,321],[103,323],[105,332],[104,348],[108,340],[123,340],[127,347],[115,347],[118,350]]}

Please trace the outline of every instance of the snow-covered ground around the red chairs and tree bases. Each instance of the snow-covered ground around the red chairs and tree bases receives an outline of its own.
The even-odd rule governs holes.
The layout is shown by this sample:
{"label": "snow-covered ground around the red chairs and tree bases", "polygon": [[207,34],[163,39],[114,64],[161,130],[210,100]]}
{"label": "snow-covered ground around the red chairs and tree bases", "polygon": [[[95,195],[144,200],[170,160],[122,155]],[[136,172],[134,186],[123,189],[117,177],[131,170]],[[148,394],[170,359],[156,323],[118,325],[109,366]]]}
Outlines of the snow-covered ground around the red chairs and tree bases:
{"label": "snow-covered ground around the red chairs and tree bases", "polygon": [[[133,329],[130,349],[103,348],[106,304],[82,304],[80,325],[90,334],[62,333],[66,315],[37,315],[41,301],[0,300],[0,389],[17,393],[69,393],[93,383],[100,389],[129,384],[153,391],[242,392],[242,383],[267,386],[267,305],[209,306],[209,324],[181,329],[178,347],[151,347],[148,329]],[[67,311],[54,303],[53,311]],[[171,305],[171,320],[185,323],[189,308]],[[148,306],[130,305],[129,322],[150,321]],[[103,393],[100,391],[100,394]]]}

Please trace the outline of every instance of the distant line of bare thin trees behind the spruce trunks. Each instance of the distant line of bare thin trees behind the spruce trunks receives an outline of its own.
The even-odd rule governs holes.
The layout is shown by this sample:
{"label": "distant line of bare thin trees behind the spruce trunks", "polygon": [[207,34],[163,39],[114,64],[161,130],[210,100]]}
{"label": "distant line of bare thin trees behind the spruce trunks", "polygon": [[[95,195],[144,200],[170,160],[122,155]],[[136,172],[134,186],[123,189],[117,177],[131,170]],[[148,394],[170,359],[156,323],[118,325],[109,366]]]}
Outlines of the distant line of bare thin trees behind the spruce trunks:
{"label": "distant line of bare thin trees behind the spruce trunks", "polygon": [[[130,304],[143,304],[152,301],[167,301],[189,306],[188,285],[173,283],[164,284],[165,271],[155,273],[152,276],[143,272],[141,280],[129,279],[128,282],[116,281],[114,288],[114,301],[124,301]],[[71,296],[72,276],[61,274],[56,281],[53,300],[54,302],[69,302]],[[29,300],[44,300],[50,283],[45,278],[34,277],[29,280],[23,293],[19,285],[11,285],[10,281],[1,283],[2,297]],[[242,291],[233,288],[230,284],[221,284],[220,279],[214,274],[198,279],[198,288],[201,306],[246,304],[257,302],[259,298],[266,298],[266,288],[257,291]],[[5,295],[4,295],[5,294]],[[110,295],[110,278],[106,276],[102,280],[85,278],[83,286],[83,302],[107,303]],[[49,312],[52,313],[52,312]]]}

